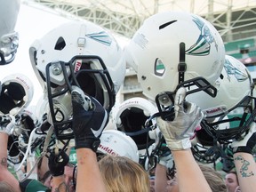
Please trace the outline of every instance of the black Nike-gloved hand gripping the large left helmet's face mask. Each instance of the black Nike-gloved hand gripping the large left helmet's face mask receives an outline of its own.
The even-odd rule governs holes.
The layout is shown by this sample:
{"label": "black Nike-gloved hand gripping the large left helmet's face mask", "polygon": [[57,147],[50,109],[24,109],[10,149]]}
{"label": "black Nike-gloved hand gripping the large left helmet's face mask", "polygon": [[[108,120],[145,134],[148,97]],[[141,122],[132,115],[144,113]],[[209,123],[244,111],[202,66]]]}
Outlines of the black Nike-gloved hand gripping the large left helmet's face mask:
{"label": "black Nike-gloved hand gripping the large left helmet's face mask", "polygon": [[85,96],[76,86],[73,86],[71,97],[76,148],[91,148],[96,152],[100,145],[101,132],[108,124],[108,113],[98,100]]}

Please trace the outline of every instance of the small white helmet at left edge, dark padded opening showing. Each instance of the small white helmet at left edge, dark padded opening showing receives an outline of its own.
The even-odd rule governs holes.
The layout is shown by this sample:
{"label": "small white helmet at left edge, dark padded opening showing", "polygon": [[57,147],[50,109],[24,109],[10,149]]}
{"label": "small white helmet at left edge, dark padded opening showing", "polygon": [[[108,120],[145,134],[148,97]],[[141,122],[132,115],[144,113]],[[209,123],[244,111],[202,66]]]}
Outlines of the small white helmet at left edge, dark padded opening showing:
{"label": "small white helmet at left edge, dark padded opening showing", "polygon": [[34,86],[27,76],[20,73],[5,76],[0,95],[0,115],[16,116],[28,107],[33,94]]}

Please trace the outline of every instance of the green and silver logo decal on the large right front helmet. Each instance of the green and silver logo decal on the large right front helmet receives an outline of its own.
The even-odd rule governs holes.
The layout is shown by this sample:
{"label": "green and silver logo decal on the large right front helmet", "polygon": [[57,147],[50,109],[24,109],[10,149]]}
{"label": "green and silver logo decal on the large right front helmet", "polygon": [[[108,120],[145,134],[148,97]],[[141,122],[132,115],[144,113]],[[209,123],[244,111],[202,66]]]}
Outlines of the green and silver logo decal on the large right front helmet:
{"label": "green and silver logo decal on the large right front helmet", "polygon": [[189,55],[197,55],[197,56],[205,56],[210,53],[211,44],[215,44],[216,50],[218,50],[218,44],[216,44],[216,41],[214,37],[212,36],[212,33],[210,29],[205,25],[204,21],[200,20],[197,17],[193,17],[193,21],[196,23],[196,26],[200,29],[201,34],[198,37],[196,44],[193,44],[186,53]]}

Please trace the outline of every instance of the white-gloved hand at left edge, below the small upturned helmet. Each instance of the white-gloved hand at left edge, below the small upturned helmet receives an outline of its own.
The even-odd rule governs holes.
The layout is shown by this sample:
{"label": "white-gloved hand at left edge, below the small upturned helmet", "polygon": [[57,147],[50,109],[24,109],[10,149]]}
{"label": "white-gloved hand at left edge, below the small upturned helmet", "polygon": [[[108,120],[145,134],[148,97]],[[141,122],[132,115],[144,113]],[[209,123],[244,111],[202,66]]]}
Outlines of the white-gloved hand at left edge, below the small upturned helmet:
{"label": "white-gloved hand at left edge, below the small upturned helmet", "polygon": [[12,134],[13,127],[15,126],[14,116],[0,116],[0,132],[8,135]]}

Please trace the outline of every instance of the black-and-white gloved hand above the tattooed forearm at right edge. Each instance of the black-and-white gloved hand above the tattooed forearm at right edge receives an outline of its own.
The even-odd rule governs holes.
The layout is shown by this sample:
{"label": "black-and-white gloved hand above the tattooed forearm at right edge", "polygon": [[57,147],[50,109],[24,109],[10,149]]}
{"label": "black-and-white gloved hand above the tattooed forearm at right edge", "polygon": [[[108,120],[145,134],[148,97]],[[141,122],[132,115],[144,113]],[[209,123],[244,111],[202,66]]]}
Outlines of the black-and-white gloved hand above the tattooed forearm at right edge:
{"label": "black-and-white gloved hand above the tattooed forearm at right edge", "polygon": [[243,140],[233,140],[231,148],[233,153],[244,152],[252,154],[252,148],[256,144],[256,123],[252,122],[250,129],[244,136]]}

